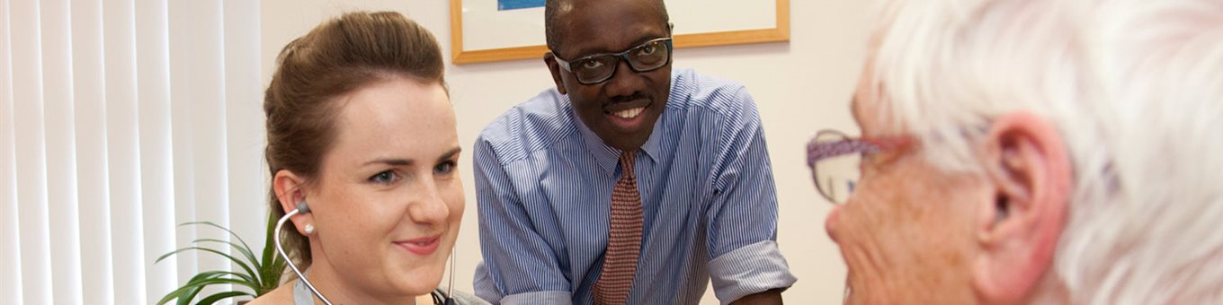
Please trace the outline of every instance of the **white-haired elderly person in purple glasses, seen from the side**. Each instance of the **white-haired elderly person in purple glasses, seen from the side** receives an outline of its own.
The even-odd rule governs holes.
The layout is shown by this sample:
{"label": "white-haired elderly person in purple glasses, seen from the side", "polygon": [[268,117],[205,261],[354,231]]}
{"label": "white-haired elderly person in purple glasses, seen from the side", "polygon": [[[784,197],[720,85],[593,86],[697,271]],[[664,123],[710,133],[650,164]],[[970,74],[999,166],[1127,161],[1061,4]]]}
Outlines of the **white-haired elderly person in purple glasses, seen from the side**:
{"label": "white-haired elderly person in purple glasses, seen from the side", "polygon": [[846,303],[1223,303],[1223,4],[882,9],[808,145]]}

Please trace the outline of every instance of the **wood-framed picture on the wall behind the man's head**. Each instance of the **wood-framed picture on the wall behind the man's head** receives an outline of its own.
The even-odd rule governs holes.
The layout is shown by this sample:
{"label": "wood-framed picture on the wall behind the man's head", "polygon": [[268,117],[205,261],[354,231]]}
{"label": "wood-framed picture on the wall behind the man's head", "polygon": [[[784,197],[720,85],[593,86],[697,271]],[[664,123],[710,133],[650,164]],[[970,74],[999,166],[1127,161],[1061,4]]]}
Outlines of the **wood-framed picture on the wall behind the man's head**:
{"label": "wood-framed picture on the wall behind the man's head", "polygon": [[[665,0],[675,48],[790,40],[790,0]],[[542,59],[544,0],[450,0],[455,65]]]}

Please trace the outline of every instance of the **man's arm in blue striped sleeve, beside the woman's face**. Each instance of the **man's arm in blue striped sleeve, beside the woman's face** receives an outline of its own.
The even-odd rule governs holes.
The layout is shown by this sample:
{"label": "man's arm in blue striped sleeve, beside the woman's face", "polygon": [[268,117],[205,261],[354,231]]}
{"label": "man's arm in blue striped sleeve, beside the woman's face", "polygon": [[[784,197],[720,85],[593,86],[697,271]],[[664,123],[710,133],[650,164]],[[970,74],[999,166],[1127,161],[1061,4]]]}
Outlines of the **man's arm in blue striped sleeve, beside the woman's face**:
{"label": "man's arm in blue striped sleeve, beside the woman's face", "polygon": [[536,233],[512,177],[483,138],[476,142],[473,155],[484,257],[476,271],[477,295],[500,304],[570,304],[571,285],[554,251]]}

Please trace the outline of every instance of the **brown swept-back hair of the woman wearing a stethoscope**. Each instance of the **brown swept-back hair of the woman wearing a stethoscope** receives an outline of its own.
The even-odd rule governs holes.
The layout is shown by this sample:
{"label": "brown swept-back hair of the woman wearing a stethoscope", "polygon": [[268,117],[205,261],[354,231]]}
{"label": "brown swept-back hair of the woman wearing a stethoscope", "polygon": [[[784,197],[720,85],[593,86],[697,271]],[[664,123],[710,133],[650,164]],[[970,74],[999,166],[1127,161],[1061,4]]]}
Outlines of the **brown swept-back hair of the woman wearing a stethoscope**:
{"label": "brown swept-back hair of the woman wearing a stethoscope", "polygon": [[[350,12],[285,45],[263,98],[272,177],[287,170],[311,185],[336,134],[336,98],[395,77],[445,85],[442,51],[429,30],[399,12]],[[296,204],[296,203],[295,203]],[[285,215],[275,188],[268,207]],[[300,268],[311,265],[309,242],[278,232]]]}

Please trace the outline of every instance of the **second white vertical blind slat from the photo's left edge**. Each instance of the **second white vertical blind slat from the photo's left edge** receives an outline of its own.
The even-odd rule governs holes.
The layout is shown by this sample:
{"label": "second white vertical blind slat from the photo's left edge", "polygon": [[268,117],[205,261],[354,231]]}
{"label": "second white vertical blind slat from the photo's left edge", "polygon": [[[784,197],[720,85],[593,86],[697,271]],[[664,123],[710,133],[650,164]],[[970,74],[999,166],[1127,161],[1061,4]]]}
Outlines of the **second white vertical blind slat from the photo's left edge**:
{"label": "second white vertical blind slat from the photo's left edge", "polygon": [[55,303],[82,304],[71,7],[67,0],[43,0],[42,4],[51,292]]}

